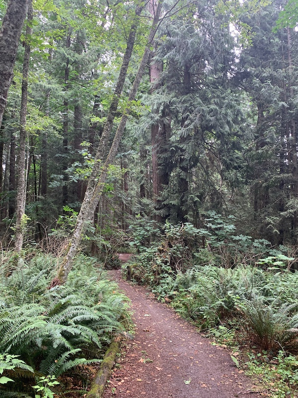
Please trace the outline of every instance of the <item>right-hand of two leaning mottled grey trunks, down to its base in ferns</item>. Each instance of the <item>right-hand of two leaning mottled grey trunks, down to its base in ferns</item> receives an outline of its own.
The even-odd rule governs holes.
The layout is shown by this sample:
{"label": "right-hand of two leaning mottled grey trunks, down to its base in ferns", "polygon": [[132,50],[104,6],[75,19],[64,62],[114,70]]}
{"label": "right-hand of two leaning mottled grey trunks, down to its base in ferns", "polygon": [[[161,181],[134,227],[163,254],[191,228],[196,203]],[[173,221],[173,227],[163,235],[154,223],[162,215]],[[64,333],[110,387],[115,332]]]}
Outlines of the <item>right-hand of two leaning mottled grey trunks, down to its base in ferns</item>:
{"label": "right-hand of two leaning mottled grey trunks, down to its base in ferns", "polygon": [[[60,268],[58,276],[57,276],[60,283],[65,283],[67,280],[68,274],[73,265],[74,256],[76,254],[78,245],[81,241],[82,233],[85,230],[85,221],[89,220],[90,215],[93,214],[95,211],[95,208],[97,206],[97,203],[99,202],[99,199],[101,197],[103,187],[104,187],[104,184],[106,181],[108,167],[113,162],[113,160],[117,154],[118,146],[119,146],[122,134],[124,132],[129,114],[131,112],[131,103],[136,97],[143,74],[145,72],[145,68],[148,63],[150,47],[151,47],[156,29],[157,29],[158,21],[159,21],[159,15],[160,15],[160,11],[161,11],[161,3],[162,3],[162,1],[159,2],[156,12],[155,12],[155,15],[154,15],[154,19],[153,19],[152,26],[151,26],[150,33],[149,33],[148,44],[145,48],[144,55],[143,55],[142,61],[140,63],[133,87],[132,87],[129,97],[128,97],[128,106],[126,107],[126,109],[124,110],[124,112],[122,114],[122,117],[121,117],[120,123],[118,125],[113,143],[111,145],[110,152],[106,158],[104,165],[102,166],[101,172],[100,172],[100,164],[99,164],[98,160],[94,164],[92,174],[94,175],[94,169],[95,169],[96,170],[95,176],[99,174],[99,178],[97,181],[95,179],[94,179],[94,181],[91,181],[91,186],[93,185],[94,189],[93,190],[87,189],[87,191],[86,191],[84,200],[81,205],[80,212],[77,216],[77,222],[76,222],[76,225],[74,228],[72,241],[70,243],[65,262],[63,263],[62,267]],[[126,70],[127,70],[127,68],[126,68]],[[120,78],[120,76],[119,76],[119,78]],[[108,118],[109,118],[109,115],[108,115]],[[109,121],[107,120],[106,123],[109,123]],[[112,125],[111,125],[111,127],[112,127]],[[105,129],[103,131],[103,135],[104,135],[104,133],[105,133]]]}

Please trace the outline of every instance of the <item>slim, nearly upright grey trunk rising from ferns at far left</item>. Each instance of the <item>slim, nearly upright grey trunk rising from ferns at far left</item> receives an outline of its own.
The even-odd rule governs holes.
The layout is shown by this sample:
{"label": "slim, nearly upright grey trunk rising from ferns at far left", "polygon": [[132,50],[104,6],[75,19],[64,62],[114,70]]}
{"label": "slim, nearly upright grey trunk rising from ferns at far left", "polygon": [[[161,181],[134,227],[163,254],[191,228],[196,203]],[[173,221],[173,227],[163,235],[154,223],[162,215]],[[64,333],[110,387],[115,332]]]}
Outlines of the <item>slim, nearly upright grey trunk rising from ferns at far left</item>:
{"label": "slim, nearly upright grey trunk rising from ferns at far left", "polygon": [[23,216],[25,214],[26,202],[26,117],[27,117],[27,99],[28,99],[28,75],[30,61],[30,36],[32,34],[31,21],[33,19],[32,0],[29,0],[28,24],[26,28],[25,53],[23,62],[23,81],[22,98],[20,110],[20,141],[18,153],[18,183],[16,194],[16,222],[15,222],[15,250],[20,253],[23,245]]}

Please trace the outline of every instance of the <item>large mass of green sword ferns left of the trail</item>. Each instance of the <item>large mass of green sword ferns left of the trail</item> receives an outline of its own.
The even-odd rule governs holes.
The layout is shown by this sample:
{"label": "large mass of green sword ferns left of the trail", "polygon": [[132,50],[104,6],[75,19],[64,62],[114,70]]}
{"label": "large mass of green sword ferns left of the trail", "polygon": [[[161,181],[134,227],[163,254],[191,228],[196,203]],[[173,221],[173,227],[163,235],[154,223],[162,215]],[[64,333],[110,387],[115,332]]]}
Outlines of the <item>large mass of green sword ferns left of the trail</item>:
{"label": "large mass of green sword ferns left of the trail", "polygon": [[100,362],[112,338],[125,333],[127,298],[105,279],[96,259],[78,256],[67,283],[51,288],[58,265],[43,253],[2,262],[0,354],[29,367],[4,369],[13,381],[1,388],[3,397],[34,397],[32,387],[42,378]]}

